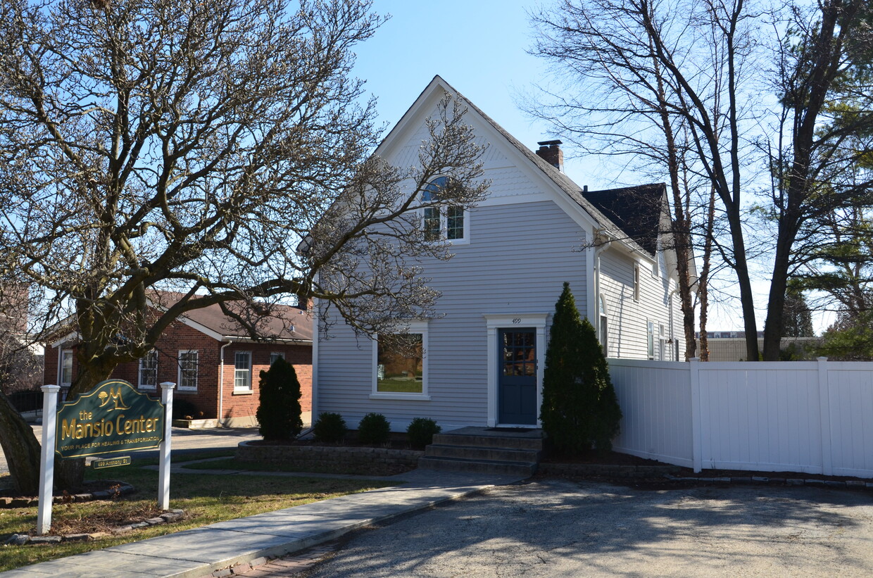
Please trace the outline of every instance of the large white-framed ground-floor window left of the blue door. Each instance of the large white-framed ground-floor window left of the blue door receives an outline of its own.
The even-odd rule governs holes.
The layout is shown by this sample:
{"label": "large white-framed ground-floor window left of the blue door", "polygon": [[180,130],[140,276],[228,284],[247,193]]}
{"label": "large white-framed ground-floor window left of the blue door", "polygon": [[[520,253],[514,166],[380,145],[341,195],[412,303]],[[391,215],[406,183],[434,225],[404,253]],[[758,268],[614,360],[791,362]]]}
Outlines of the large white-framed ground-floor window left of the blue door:
{"label": "large white-framed ground-floor window left of the blue door", "polygon": [[375,341],[375,396],[427,396],[427,324],[410,324],[409,332],[379,334]]}

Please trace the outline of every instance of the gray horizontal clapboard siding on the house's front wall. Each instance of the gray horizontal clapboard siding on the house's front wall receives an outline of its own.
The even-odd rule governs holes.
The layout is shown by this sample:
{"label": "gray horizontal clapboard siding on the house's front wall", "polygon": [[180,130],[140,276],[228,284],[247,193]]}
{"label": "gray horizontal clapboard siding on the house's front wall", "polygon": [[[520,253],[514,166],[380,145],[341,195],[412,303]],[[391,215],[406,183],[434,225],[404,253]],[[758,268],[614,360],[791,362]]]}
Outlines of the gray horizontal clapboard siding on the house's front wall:
{"label": "gray horizontal clapboard siding on the house's front wall", "polygon": [[[485,313],[551,313],[568,281],[585,314],[585,251],[581,229],[552,202],[501,204],[471,212],[471,242],[448,262],[425,265],[443,292],[428,340],[430,401],[370,399],[373,345],[341,324],[319,347],[319,411],[342,414],[349,427],[376,411],[404,430],[424,416],[448,429],[485,425],[487,334]],[[540,360],[545,359],[541,351]]]}

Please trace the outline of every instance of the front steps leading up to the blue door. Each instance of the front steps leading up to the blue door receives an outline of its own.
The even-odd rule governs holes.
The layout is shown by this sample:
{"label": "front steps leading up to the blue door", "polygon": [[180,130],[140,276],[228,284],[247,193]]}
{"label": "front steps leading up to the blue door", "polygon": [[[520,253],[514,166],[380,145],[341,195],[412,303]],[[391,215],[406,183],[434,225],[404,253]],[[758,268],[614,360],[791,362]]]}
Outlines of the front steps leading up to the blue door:
{"label": "front steps leading up to the blue door", "polygon": [[461,428],[436,434],[418,459],[423,470],[476,471],[529,478],[543,449],[542,430],[493,431]]}

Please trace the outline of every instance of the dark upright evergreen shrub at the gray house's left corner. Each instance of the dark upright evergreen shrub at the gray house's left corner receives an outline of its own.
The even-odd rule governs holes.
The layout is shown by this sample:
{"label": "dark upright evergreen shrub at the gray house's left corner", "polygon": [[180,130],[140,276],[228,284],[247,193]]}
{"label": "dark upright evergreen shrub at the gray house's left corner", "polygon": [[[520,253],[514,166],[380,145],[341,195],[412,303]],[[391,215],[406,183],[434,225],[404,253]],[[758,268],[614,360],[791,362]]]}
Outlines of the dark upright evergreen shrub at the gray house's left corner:
{"label": "dark upright evergreen shrub at the gray house's left corner", "polygon": [[300,418],[300,382],[294,366],[279,358],[270,369],[261,371],[258,432],[264,439],[294,439],[303,430]]}

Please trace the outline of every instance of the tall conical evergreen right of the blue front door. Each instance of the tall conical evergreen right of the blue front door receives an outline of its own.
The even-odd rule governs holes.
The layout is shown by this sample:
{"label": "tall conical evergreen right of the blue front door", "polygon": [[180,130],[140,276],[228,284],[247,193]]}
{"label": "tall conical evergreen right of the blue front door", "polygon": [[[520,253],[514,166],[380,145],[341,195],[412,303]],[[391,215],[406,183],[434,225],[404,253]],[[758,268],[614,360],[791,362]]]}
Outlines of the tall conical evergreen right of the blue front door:
{"label": "tall conical evergreen right of the blue front door", "polygon": [[595,328],[580,318],[570,284],[555,304],[540,421],[559,451],[612,449],[622,410],[609,380],[606,358]]}

